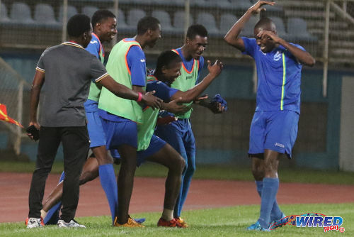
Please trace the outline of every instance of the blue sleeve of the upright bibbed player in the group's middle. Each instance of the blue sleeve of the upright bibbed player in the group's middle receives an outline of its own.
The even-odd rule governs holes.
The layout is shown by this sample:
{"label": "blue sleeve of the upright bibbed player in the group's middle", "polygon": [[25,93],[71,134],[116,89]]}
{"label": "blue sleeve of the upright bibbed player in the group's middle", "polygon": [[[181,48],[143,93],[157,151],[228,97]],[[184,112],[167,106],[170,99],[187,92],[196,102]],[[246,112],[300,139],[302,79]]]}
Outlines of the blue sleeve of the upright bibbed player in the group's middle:
{"label": "blue sleeve of the upright bibbed player in the group's middle", "polygon": [[145,55],[138,46],[132,46],[127,53],[127,64],[132,77],[132,85],[145,87],[147,77],[147,65]]}

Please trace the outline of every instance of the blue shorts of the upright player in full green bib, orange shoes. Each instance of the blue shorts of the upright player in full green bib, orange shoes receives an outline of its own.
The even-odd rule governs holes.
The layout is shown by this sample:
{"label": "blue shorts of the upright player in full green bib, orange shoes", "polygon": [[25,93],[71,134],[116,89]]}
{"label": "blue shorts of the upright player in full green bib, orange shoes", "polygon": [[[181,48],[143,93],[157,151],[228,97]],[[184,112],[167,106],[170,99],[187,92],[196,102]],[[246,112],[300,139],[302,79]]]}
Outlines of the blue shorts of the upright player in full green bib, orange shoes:
{"label": "blue shorts of the upright player in full green bib, orange shoes", "polygon": [[101,119],[108,149],[117,149],[124,144],[137,148],[137,123],[129,119],[120,122]]}

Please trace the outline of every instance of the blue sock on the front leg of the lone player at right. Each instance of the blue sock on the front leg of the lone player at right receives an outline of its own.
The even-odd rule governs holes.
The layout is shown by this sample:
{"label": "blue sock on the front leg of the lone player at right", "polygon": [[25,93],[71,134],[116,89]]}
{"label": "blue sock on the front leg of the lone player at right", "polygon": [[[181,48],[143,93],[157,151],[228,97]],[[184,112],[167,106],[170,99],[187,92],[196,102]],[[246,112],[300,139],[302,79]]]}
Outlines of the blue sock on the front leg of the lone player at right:
{"label": "blue sock on the front leg of the lone player at right", "polygon": [[263,189],[261,196],[261,215],[259,216],[259,223],[263,228],[269,228],[270,212],[273,209],[275,197],[277,196],[279,188],[278,178],[264,178]]}

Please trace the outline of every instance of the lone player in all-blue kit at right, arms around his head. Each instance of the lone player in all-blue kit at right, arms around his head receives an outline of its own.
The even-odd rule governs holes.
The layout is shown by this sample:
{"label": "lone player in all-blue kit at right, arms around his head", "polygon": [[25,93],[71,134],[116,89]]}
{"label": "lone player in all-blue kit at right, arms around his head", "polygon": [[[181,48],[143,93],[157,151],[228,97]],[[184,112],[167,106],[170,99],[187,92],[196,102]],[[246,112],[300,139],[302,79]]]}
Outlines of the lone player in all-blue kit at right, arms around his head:
{"label": "lone player in all-blue kit at right, arms around his head", "polygon": [[[285,215],[276,202],[279,187],[280,155],[292,155],[300,113],[302,65],[313,66],[314,58],[300,45],[287,43],[277,35],[269,18],[254,26],[255,38],[239,38],[244,24],[261,6],[275,3],[258,1],[237,21],[224,40],[256,61],[258,88],[256,111],[250,129],[249,157],[261,196],[261,214],[248,230],[270,231],[281,225]],[[270,222],[272,222],[270,224]]]}

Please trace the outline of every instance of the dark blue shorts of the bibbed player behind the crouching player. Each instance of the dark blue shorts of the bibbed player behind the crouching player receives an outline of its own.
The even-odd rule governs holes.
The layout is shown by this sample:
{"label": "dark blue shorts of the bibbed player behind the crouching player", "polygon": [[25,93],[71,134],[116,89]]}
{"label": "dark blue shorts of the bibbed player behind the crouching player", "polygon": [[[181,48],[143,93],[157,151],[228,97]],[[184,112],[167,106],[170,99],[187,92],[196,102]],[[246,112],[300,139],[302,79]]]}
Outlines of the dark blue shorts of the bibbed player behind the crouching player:
{"label": "dark blue shorts of the bibbed player behind the crouching player", "polygon": [[[195,160],[195,138],[188,118],[178,118],[177,121],[159,125],[156,136],[166,140],[187,162]],[[189,163],[189,162],[188,162]]]}

